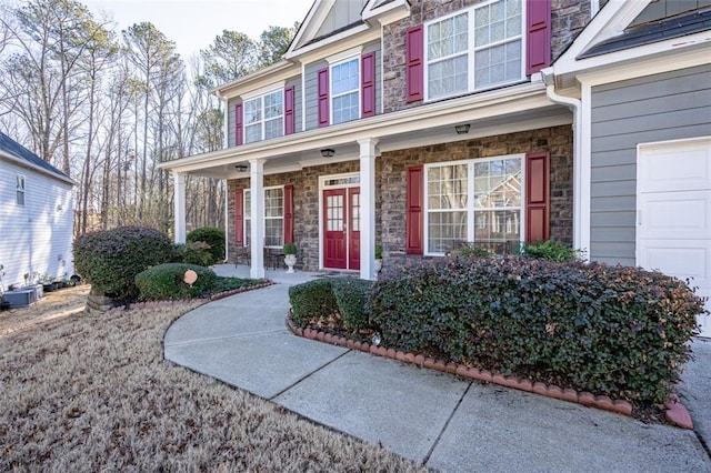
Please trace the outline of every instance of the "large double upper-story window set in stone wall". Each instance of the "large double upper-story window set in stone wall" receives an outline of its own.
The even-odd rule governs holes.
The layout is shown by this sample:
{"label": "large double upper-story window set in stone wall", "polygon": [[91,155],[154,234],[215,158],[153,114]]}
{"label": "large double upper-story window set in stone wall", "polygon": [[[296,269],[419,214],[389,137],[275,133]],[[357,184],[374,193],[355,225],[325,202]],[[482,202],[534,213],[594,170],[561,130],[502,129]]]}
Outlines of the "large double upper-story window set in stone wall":
{"label": "large double upper-story window set in stone wall", "polygon": [[524,78],[522,0],[498,0],[425,24],[428,100]]}

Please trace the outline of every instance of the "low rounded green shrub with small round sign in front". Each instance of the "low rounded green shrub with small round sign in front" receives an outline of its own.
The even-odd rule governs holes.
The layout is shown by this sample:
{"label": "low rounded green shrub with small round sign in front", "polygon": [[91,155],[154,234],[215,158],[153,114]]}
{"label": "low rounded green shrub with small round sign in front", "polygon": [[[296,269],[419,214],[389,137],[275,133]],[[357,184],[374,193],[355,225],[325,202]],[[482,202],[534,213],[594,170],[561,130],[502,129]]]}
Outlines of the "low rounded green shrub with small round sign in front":
{"label": "low rounded green shrub with small round sign in front", "polygon": [[[186,271],[198,273],[197,281],[190,285],[184,282]],[[136,285],[140,299],[147,301],[164,301],[190,299],[211,291],[218,276],[208,268],[186,263],[166,263],[137,274]]]}

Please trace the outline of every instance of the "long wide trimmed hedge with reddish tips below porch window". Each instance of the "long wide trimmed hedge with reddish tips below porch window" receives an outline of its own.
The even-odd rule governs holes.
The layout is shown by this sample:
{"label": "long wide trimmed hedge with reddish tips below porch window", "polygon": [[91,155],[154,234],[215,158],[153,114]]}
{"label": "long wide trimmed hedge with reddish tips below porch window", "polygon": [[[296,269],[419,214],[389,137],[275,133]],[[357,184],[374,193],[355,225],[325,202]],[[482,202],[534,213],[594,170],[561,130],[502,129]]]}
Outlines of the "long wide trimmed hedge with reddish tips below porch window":
{"label": "long wide trimmed hedge with reddish tips below porch window", "polygon": [[385,345],[653,403],[669,399],[704,311],[659,272],[515,256],[390,272],[370,303]]}

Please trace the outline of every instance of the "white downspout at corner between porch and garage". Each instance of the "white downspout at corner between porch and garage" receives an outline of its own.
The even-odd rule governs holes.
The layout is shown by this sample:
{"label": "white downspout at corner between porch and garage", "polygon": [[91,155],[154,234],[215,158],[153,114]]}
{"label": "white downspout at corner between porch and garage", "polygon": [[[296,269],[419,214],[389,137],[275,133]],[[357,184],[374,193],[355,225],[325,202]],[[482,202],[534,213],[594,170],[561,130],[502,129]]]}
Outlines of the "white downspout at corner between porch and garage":
{"label": "white downspout at corner between porch and garage", "polygon": [[588,260],[589,249],[582,248],[582,212],[585,205],[582,202],[583,170],[585,167],[585,162],[583,162],[585,160],[582,155],[582,102],[580,99],[561,95],[555,92],[555,76],[552,68],[543,69],[541,76],[545,84],[545,94],[551,102],[567,105],[573,112],[573,248],[582,250],[581,255]]}

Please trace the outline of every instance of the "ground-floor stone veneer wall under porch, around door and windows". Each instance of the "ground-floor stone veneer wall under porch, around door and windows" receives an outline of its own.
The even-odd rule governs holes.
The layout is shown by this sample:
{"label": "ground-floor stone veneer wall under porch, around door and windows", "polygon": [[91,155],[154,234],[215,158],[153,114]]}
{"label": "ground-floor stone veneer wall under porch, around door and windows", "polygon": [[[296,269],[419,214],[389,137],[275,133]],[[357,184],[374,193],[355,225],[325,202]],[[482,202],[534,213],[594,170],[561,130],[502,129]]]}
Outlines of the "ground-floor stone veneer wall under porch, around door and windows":
{"label": "ground-floor stone veneer wall under porch, around door and windows", "polygon": [[[375,165],[375,242],[383,248],[385,264],[422,259],[405,255],[405,172],[409,167],[475,158],[549,151],[551,239],[572,242],[573,147],[570,125],[520,133],[434,144],[384,152]],[[294,238],[299,248],[297,268],[319,269],[319,177],[357,172],[358,161],[306,168],[300,172],[264,177],[264,185],[294,185]],[[228,182],[228,191],[249,188],[249,179]],[[234,199],[229,200],[229,253],[234,261]]]}

